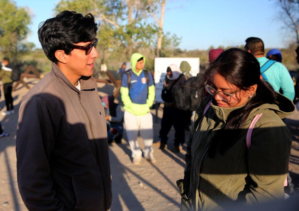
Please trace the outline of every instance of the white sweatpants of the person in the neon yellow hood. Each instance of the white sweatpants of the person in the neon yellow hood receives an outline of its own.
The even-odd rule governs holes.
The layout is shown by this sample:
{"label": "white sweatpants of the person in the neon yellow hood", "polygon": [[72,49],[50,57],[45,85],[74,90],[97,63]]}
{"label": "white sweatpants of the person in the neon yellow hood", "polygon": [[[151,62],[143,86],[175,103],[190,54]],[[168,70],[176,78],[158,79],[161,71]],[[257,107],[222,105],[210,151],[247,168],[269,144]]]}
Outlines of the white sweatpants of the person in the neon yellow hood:
{"label": "white sweatpants of the person in the neon yellow hood", "polygon": [[126,134],[131,147],[132,157],[142,156],[142,151],[137,142],[138,131],[144,141],[144,155],[152,153],[153,144],[153,115],[149,112],[143,116],[136,116],[132,113],[125,111],[124,122],[126,126]]}

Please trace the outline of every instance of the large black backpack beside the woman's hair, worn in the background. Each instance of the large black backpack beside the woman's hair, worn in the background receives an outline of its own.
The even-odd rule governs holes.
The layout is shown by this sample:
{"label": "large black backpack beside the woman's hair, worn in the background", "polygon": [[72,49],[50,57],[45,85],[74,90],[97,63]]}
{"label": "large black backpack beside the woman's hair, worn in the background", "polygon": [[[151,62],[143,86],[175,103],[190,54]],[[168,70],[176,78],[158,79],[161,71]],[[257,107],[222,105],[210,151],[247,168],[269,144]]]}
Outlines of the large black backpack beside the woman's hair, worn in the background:
{"label": "large black backpack beside the woman's hair, worn in the background", "polygon": [[202,75],[189,78],[173,90],[175,106],[184,111],[195,111],[202,100]]}

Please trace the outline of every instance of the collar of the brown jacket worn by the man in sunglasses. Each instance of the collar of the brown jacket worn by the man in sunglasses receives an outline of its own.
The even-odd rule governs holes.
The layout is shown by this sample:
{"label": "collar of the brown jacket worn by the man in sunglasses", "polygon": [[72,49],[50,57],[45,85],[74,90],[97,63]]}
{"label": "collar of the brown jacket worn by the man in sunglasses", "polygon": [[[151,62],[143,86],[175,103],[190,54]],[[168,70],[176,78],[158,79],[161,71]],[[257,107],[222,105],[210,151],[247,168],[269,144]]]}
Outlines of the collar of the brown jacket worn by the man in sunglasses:
{"label": "collar of the brown jacket worn by the man in sunglasses", "polygon": [[[61,72],[61,70],[59,69],[59,67],[52,62],[52,71],[54,72],[54,74],[59,77],[61,80],[64,81],[64,83],[66,83],[71,89],[73,89],[76,92],[80,92],[70,81],[69,79],[67,79],[67,77],[65,77],[65,75],[63,74],[63,72]],[[87,89],[96,89],[97,88],[97,82],[96,80],[93,78],[93,76],[90,77],[85,77],[82,76],[79,79],[80,85],[81,85],[81,90],[87,90]]]}

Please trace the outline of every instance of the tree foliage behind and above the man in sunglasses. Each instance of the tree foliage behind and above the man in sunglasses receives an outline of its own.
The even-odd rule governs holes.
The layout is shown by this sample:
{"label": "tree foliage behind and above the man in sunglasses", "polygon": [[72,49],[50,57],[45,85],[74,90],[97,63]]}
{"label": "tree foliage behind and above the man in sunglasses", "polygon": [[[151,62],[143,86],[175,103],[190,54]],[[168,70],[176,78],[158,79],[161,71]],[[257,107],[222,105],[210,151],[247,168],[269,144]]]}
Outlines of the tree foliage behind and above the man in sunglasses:
{"label": "tree foliage behind and above the man in sunglasses", "polygon": [[108,51],[125,55],[129,59],[133,51],[149,47],[154,43],[158,29],[143,20],[144,13],[138,1],[133,0],[61,0],[55,12],[76,11],[83,15],[93,14],[99,25],[99,51],[101,63],[105,62]]}

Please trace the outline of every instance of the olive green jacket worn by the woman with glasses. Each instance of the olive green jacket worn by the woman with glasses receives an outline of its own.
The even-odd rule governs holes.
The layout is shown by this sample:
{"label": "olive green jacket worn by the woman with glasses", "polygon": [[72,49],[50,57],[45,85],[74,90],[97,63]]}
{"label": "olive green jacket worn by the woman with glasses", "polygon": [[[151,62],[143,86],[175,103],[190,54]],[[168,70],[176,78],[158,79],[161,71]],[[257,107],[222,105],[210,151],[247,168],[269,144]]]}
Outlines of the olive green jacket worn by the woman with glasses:
{"label": "olive green jacket worn by the woman with glasses", "polygon": [[[230,112],[240,107],[221,108],[212,101],[203,115],[212,97],[202,100],[187,142],[184,180],[177,181],[182,195],[181,210],[229,209],[232,205],[284,196],[292,136],[282,118],[294,111],[294,105],[280,94],[278,98],[276,104],[254,108],[241,130],[221,137],[222,145],[218,144],[212,157],[207,153],[212,137],[225,126]],[[260,113],[263,114],[254,126],[248,149],[246,134],[251,121]],[[231,138],[237,141],[220,153],[220,146],[226,146],[223,141]]]}

